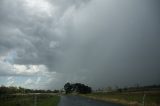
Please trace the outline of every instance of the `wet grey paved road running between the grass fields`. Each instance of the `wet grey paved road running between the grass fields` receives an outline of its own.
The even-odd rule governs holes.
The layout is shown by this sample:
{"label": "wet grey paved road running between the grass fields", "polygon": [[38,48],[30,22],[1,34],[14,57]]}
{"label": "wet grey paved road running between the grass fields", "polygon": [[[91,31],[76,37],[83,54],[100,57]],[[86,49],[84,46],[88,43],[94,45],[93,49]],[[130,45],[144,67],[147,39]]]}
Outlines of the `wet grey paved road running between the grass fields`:
{"label": "wet grey paved road running between the grass fields", "polygon": [[61,96],[61,100],[58,106],[122,106],[122,105],[96,101],[79,96]]}

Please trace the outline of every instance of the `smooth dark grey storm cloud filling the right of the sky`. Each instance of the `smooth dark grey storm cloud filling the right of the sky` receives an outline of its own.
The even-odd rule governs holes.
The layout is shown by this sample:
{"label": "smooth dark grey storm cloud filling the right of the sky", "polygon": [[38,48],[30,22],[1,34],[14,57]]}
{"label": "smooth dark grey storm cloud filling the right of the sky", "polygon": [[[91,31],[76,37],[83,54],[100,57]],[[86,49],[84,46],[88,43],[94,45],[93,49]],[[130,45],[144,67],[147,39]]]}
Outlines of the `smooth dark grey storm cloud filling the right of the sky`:
{"label": "smooth dark grey storm cloud filling the right of the sky", "polygon": [[62,70],[99,86],[159,83],[157,3],[115,0],[90,3],[75,16]]}

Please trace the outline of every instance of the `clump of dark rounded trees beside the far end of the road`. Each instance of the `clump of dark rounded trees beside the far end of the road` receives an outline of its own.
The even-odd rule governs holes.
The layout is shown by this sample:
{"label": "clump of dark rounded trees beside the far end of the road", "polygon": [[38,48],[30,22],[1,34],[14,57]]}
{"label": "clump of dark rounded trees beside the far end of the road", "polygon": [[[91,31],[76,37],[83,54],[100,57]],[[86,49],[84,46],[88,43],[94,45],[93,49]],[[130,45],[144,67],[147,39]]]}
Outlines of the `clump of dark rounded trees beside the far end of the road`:
{"label": "clump of dark rounded trees beside the far end of the road", "polygon": [[87,86],[87,85],[84,85],[84,84],[81,84],[81,83],[71,84],[69,82],[64,85],[64,90],[65,90],[66,94],[68,94],[68,93],[86,94],[86,93],[91,93],[92,92],[92,88]]}

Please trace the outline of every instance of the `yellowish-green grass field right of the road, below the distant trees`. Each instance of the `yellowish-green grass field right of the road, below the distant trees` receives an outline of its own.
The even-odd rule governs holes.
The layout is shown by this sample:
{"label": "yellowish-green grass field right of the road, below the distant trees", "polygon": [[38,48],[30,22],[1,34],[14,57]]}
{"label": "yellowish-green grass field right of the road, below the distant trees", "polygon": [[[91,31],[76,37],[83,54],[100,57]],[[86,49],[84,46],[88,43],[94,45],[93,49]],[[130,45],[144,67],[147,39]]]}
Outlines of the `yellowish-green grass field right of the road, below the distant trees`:
{"label": "yellowish-green grass field right of the road, below the distant trees", "polygon": [[83,95],[93,99],[110,101],[124,104],[126,106],[143,106],[143,97],[145,106],[160,106],[160,92],[110,92],[110,93],[92,93]]}

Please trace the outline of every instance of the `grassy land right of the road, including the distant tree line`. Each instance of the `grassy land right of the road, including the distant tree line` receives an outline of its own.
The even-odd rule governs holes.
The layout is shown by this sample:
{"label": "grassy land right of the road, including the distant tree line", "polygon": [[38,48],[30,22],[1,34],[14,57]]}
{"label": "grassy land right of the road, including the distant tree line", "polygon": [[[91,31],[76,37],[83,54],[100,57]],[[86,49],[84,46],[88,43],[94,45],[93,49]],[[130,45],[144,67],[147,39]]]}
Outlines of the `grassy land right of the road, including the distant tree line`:
{"label": "grassy land right of the road, including the distant tree line", "polygon": [[94,92],[83,96],[126,106],[160,106],[160,89],[158,86],[130,87],[110,92]]}

